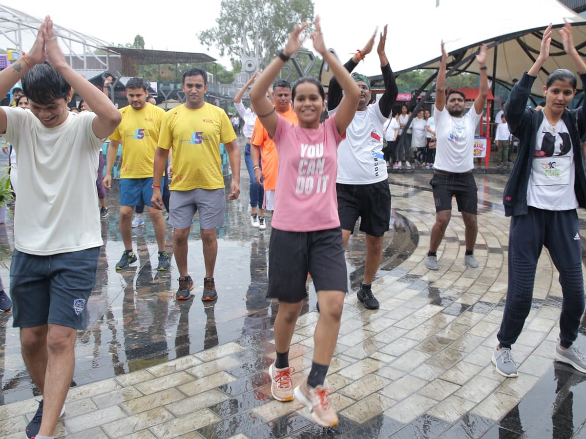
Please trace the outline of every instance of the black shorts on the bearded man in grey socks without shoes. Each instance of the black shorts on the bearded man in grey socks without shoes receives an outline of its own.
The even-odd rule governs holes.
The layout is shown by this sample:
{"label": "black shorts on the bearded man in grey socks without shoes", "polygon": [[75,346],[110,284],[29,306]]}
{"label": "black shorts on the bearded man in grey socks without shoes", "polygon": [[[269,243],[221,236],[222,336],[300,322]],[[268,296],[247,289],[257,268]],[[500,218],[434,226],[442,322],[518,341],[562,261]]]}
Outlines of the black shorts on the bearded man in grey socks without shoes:
{"label": "black shorts on the bearded man in grey socks without shoes", "polygon": [[451,173],[434,171],[430,181],[434,190],[435,211],[452,210],[452,197],[456,197],[458,212],[476,215],[478,212],[478,189],[472,172]]}

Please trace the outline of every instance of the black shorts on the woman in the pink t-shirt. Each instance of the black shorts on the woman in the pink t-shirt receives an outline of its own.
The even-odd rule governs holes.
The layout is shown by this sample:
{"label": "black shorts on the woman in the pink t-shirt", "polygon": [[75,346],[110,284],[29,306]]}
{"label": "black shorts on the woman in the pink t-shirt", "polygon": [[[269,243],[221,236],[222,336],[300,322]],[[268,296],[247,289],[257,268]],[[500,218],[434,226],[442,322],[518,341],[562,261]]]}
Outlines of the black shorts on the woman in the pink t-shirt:
{"label": "black shorts on the woman in the pink t-shirt", "polygon": [[288,303],[305,299],[308,273],[316,291],[347,291],[342,230],[287,232],[272,228],[267,297]]}

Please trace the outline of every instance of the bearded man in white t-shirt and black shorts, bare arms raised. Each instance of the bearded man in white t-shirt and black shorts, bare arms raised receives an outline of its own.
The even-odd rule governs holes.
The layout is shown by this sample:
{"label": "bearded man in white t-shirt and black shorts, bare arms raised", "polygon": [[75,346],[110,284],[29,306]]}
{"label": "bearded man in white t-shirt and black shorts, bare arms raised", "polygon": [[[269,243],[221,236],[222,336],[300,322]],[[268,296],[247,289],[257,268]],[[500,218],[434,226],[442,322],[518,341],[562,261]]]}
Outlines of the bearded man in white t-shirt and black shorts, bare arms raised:
{"label": "bearded man in white t-shirt and black shorts, bare arms raised", "polygon": [[482,118],[488,97],[488,77],[486,76],[486,45],[482,44],[476,55],[480,67],[480,89],[474,105],[464,114],[466,96],[459,90],[445,91],[445,72],[448,54],[441,44],[442,59],[435,85],[435,138],[437,148],[434,162],[434,176],[431,187],[434,191],[435,224],[431,229],[430,251],[425,258],[425,266],[439,270],[437,249],[444,238],[452,215],[452,197],[456,197],[458,211],[462,212],[465,227],[466,253],[464,262],[467,267],[478,268],[474,258],[474,245],[478,234],[476,212],[478,194],[472,171],[474,170],[474,133]]}

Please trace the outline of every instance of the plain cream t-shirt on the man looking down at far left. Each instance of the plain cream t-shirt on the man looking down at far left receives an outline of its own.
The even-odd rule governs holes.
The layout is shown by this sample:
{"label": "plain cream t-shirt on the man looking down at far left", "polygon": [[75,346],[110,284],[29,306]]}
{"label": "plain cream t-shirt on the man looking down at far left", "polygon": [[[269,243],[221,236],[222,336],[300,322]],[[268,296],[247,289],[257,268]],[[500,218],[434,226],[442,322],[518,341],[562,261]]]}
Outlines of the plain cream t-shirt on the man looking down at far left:
{"label": "plain cream t-shirt on the man looking down at far left", "polygon": [[96,114],[69,113],[45,128],[29,109],[4,107],[5,138],[16,149],[18,203],[14,246],[31,255],[55,255],[103,245],[96,177],[102,141]]}

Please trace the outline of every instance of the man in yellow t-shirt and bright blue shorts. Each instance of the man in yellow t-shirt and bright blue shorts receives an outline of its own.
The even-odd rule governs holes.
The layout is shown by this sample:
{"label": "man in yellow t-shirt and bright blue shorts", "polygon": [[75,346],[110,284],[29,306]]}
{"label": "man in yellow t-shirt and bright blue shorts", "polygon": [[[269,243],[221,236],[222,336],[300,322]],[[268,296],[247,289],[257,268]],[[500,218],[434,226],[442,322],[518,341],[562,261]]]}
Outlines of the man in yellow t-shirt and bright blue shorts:
{"label": "man in yellow t-shirt and bright blue shorts", "polygon": [[122,142],[122,166],[120,167],[120,234],[124,242],[124,253],[116,264],[117,270],[124,270],[136,262],[132,251],[132,214],[134,206],[145,204],[155,229],[159,246],[157,270],[168,270],[171,266],[165,252],[165,219],[161,211],[152,207],[152,170],[156,145],[159,141],[161,121],[165,110],[147,102],[148,84],[142,78],[130,78],[126,83],[128,104],[120,109],[122,121],[110,135],[104,187],[111,188],[112,167]]}

